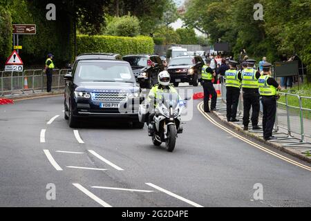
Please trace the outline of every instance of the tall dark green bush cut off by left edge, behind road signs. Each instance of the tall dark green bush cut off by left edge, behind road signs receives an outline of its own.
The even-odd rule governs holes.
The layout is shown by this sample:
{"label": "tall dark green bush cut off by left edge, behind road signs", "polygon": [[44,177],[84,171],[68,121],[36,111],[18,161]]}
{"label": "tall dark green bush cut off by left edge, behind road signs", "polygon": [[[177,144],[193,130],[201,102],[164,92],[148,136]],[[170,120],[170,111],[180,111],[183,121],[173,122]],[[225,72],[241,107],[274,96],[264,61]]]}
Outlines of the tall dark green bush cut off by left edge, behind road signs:
{"label": "tall dark green bush cut off by left edge, behind road signs", "polygon": [[3,64],[12,49],[12,19],[2,6],[0,6],[0,36],[0,62]]}

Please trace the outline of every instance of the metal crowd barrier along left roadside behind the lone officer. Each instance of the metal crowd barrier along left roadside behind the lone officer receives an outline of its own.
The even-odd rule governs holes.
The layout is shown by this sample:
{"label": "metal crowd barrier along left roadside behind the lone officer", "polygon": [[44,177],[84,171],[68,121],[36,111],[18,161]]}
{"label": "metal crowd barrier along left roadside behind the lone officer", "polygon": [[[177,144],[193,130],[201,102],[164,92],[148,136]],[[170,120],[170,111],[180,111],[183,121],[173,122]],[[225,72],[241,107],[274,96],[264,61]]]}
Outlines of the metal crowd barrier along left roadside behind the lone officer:
{"label": "metal crowd barrier along left roadside behind the lone officer", "polygon": [[[52,88],[61,89],[65,86],[64,75],[69,69],[53,70]],[[0,71],[0,96],[14,95],[35,90],[46,89],[46,74],[42,69],[23,70],[23,72]]]}

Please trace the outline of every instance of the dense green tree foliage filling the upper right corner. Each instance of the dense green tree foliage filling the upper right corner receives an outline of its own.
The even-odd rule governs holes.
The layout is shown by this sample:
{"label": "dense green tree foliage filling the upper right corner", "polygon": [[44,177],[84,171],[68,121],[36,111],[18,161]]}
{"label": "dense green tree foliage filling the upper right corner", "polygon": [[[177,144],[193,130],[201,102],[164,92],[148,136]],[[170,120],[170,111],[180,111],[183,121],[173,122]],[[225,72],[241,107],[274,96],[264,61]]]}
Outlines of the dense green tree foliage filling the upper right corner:
{"label": "dense green tree foliage filling the upper right corner", "polygon": [[[263,20],[254,19],[256,3]],[[211,43],[229,42],[236,57],[242,48],[269,61],[296,53],[311,70],[311,0],[191,0],[186,8],[187,26],[207,33]]]}

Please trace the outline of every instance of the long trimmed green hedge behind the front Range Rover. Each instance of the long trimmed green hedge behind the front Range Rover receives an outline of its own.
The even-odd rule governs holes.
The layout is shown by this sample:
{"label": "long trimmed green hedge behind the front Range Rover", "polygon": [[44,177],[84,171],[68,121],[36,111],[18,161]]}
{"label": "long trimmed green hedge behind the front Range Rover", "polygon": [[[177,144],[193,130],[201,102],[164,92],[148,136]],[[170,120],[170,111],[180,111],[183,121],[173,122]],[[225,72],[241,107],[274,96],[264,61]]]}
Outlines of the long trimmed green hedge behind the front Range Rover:
{"label": "long trimmed green hedge behind the front Range Rover", "polygon": [[109,35],[77,35],[77,54],[86,52],[110,52],[120,55],[153,54],[151,37],[117,37]]}

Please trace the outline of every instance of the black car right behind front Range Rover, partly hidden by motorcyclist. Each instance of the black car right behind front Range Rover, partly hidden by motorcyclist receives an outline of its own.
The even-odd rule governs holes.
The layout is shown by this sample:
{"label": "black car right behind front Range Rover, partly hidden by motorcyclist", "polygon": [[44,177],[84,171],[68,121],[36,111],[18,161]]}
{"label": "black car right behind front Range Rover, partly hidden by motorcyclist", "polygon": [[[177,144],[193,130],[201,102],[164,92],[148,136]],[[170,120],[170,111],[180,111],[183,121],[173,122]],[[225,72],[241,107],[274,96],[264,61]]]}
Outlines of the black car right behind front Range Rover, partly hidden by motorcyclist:
{"label": "black car right behind front Range Rover, partly hidden by motorcyclist", "polygon": [[158,74],[164,70],[158,55],[126,55],[123,60],[131,64],[135,78],[142,88],[152,88],[158,83]]}

